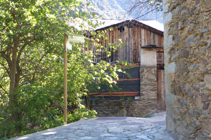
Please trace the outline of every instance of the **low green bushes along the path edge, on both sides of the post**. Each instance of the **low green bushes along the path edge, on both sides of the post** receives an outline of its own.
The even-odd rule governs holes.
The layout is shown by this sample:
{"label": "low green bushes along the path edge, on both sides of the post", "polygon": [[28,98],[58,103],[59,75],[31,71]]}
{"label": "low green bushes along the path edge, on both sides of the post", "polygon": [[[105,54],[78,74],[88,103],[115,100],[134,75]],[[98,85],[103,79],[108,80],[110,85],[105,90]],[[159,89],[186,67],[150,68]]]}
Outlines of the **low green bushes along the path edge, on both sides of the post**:
{"label": "low green bushes along the path edge, on both sides of the post", "polygon": [[[22,86],[17,93],[18,106],[12,111],[18,112],[20,119],[18,121],[9,120],[9,117],[4,114],[13,112],[9,112],[9,109],[5,107],[0,114],[0,139],[25,135],[64,124],[63,101],[60,101],[63,90],[55,93],[52,87],[34,84]],[[73,113],[68,115],[68,123],[84,117],[93,118],[96,114],[96,111],[80,105],[80,108],[74,109]],[[21,133],[16,132],[17,127],[21,128]]]}

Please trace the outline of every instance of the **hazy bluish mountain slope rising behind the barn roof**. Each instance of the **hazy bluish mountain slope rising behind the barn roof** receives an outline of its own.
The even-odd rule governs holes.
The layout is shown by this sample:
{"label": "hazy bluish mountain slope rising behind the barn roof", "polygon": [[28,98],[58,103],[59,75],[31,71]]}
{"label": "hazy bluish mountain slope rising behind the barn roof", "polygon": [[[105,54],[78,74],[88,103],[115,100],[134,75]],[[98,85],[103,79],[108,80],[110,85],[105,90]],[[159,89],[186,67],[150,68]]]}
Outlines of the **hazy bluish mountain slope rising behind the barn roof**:
{"label": "hazy bluish mountain slope rising behind the barn roof", "polygon": [[[94,11],[102,19],[136,19],[150,11],[147,7],[143,7],[128,15],[131,7],[130,0],[84,0],[84,2],[91,2],[93,5],[88,10]],[[153,11],[138,18],[138,20],[157,20],[163,23],[163,13],[161,11]]]}

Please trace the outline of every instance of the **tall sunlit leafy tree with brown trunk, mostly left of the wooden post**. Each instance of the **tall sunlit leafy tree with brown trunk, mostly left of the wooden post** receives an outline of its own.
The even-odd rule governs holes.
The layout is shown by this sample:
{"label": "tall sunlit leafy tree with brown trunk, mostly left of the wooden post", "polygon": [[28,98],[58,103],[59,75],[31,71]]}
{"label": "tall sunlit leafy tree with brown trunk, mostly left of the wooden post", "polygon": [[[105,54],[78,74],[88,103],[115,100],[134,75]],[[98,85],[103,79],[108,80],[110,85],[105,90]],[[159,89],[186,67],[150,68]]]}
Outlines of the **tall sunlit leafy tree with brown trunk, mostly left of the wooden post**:
{"label": "tall sunlit leafy tree with brown trunk, mostly left of the wooden post", "polygon": [[[61,51],[62,34],[69,28],[64,16],[68,19],[71,15],[69,9],[79,3],[59,0],[1,0],[0,3],[1,65],[7,72],[4,77],[10,79],[9,109],[14,110],[18,101],[15,90],[19,85],[32,83],[38,78],[38,72],[46,70],[39,67],[39,61],[48,53]],[[10,120],[18,121],[19,113],[14,111]],[[17,127],[17,132],[20,129]]]}

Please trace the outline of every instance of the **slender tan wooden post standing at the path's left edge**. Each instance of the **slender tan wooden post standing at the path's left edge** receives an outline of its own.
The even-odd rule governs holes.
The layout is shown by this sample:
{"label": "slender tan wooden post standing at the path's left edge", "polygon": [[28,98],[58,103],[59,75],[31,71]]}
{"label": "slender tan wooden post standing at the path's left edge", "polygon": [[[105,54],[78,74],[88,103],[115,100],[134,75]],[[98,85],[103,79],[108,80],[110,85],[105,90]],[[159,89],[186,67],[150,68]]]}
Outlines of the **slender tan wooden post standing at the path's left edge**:
{"label": "slender tan wooden post standing at the path's left edge", "polygon": [[64,35],[64,122],[67,123],[67,35]]}

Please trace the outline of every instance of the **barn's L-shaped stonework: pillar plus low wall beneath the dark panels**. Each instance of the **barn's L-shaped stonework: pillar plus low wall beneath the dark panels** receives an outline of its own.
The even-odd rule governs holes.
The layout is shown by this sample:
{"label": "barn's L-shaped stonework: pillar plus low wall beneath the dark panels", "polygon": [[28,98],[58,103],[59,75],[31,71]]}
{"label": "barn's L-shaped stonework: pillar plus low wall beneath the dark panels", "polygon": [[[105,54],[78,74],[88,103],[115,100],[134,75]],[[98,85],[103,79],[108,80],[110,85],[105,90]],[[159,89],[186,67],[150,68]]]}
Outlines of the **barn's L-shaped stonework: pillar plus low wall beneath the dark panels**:
{"label": "barn's L-shaped stonework: pillar plus low wall beneath the dark panels", "polygon": [[142,67],[141,97],[139,100],[93,100],[90,108],[98,112],[99,117],[108,116],[144,116],[157,110],[156,68]]}

